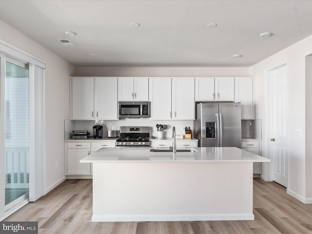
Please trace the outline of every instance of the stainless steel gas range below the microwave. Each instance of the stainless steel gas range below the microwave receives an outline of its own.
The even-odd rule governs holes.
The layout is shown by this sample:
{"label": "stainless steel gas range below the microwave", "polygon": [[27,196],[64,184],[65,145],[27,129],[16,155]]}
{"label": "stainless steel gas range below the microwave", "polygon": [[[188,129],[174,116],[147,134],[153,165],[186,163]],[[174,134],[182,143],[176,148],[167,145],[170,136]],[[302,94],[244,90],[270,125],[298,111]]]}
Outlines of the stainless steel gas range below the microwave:
{"label": "stainless steel gas range below the microwave", "polygon": [[150,127],[120,127],[116,147],[149,147]]}

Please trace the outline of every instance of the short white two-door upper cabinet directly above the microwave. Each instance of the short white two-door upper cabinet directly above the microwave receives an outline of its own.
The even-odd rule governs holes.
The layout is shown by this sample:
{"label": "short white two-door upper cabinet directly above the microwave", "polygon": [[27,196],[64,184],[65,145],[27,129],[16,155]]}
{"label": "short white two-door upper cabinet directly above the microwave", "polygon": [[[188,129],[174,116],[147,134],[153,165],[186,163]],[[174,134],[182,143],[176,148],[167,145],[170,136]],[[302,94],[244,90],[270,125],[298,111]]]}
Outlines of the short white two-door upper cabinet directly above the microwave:
{"label": "short white two-door upper cabinet directly above the microwave", "polygon": [[146,77],[119,77],[119,101],[148,101],[149,78]]}

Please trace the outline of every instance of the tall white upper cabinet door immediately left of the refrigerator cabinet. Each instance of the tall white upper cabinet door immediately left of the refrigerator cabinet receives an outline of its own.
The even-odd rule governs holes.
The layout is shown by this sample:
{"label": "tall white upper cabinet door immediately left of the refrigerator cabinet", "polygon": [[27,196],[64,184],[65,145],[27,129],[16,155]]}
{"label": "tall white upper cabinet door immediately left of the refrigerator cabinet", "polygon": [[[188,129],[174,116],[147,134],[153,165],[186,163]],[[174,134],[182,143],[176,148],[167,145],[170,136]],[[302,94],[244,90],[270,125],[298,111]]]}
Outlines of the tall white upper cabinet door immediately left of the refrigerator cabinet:
{"label": "tall white upper cabinet door immediately left of the refrigerator cabinet", "polygon": [[172,78],[172,119],[195,119],[195,78]]}

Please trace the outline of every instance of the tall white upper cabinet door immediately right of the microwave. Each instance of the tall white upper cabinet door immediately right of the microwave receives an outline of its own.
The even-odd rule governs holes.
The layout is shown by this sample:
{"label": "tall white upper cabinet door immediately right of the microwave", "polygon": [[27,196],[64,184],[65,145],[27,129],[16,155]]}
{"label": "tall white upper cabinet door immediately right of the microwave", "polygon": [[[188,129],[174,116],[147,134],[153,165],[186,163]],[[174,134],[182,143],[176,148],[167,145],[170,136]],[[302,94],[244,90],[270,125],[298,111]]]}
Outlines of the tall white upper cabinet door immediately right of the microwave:
{"label": "tall white upper cabinet door immediately right of the microwave", "polygon": [[149,78],[151,119],[171,119],[171,78]]}

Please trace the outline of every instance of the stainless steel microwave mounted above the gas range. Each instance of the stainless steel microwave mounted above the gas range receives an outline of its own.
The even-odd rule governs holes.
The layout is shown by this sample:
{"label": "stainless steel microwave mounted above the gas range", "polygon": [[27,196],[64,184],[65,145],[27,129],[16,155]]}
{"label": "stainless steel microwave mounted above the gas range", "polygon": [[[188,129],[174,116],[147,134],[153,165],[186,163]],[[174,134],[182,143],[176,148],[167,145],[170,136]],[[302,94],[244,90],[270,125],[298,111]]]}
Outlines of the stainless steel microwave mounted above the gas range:
{"label": "stainless steel microwave mounted above the gas range", "polygon": [[119,118],[149,118],[149,101],[119,101]]}

